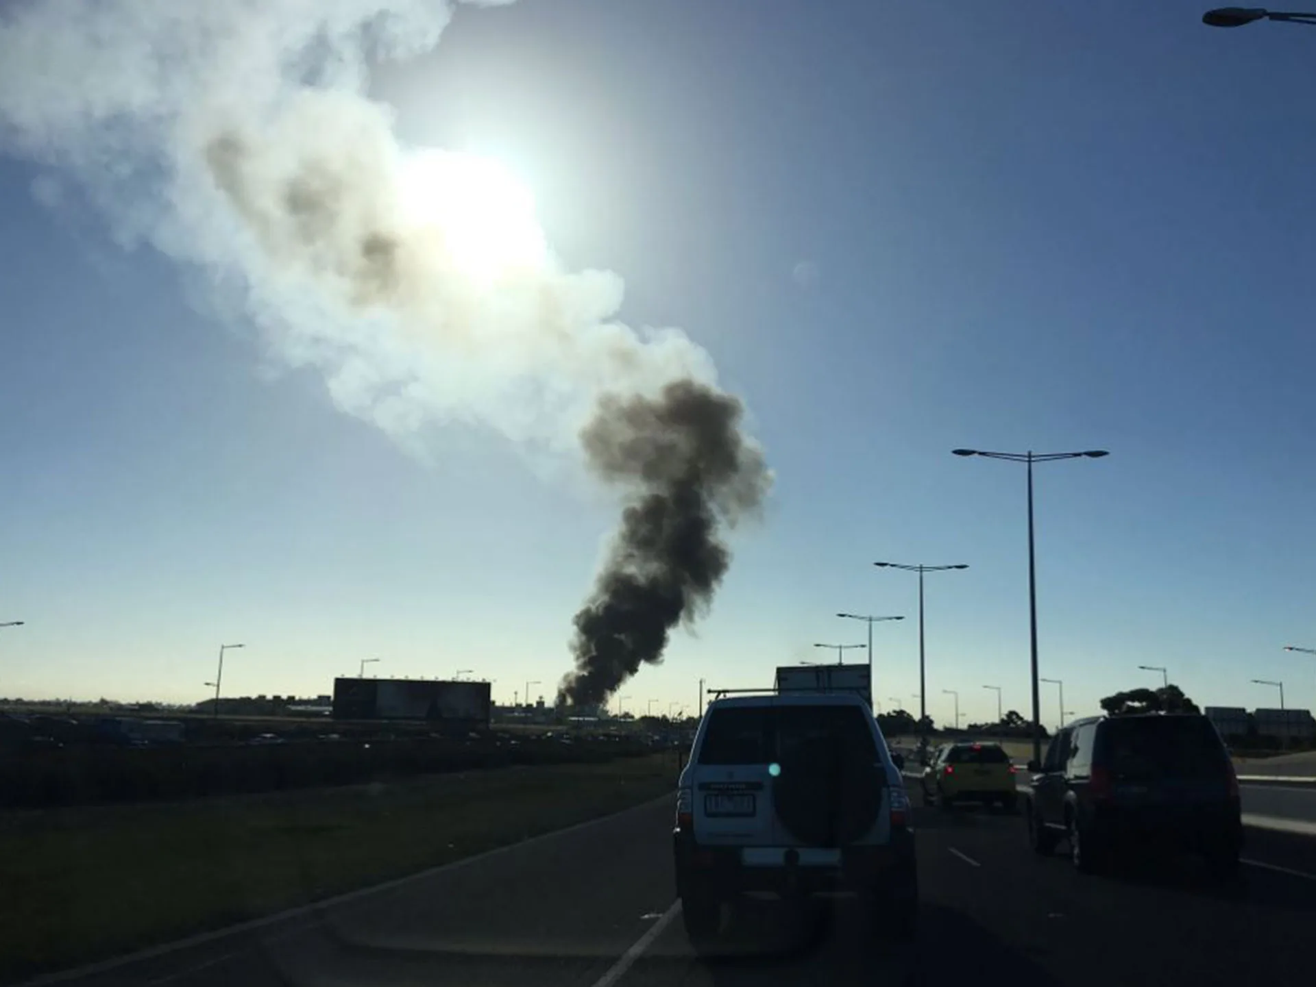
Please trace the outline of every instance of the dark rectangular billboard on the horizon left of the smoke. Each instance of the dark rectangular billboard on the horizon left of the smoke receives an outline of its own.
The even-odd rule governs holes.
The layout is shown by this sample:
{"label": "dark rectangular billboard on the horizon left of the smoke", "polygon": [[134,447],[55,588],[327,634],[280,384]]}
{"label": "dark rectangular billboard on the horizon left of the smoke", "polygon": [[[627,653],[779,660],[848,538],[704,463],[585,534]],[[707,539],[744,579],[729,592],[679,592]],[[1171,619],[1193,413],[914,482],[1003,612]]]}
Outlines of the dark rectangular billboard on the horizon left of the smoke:
{"label": "dark rectangular billboard on the horizon left of the smoke", "polygon": [[462,728],[490,724],[488,682],[336,678],[336,720],[424,720]]}

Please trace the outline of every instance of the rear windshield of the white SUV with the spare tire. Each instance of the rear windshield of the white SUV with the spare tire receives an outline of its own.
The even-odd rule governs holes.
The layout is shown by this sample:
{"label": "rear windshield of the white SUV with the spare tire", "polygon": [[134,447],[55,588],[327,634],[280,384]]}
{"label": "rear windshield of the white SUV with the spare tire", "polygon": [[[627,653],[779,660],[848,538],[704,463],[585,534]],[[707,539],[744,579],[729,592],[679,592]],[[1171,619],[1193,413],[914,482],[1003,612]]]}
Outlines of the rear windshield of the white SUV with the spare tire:
{"label": "rear windshield of the white SUV with the spare tire", "polygon": [[766,765],[819,754],[876,760],[867,716],[854,706],[742,706],[712,710],[701,765]]}

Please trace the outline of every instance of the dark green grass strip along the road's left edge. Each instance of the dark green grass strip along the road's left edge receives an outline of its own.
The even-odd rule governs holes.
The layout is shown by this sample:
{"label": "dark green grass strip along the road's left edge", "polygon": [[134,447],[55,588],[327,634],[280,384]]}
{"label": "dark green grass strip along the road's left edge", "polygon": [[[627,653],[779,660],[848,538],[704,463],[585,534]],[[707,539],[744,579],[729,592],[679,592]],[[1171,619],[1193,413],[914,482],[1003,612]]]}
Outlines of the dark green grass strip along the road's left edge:
{"label": "dark green grass strip along the road's left edge", "polygon": [[0,815],[0,980],[365,887],[657,798],[674,754]]}

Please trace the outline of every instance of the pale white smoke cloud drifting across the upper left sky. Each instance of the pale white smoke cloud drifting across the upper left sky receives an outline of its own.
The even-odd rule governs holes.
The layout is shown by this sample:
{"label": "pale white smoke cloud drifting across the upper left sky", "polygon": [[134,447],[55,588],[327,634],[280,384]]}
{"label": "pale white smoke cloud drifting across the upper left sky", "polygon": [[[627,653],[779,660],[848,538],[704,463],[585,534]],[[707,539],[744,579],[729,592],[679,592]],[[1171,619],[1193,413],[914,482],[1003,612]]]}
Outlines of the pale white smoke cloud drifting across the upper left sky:
{"label": "pale white smoke cloud drifting across the upper left sky", "polygon": [[237,296],[276,361],[317,368],[343,411],[399,442],[470,421],[574,448],[601,392],[715,372],[682,333],[616,322],[620,277],[562,269],[496,170],[399,142],[368,66],[432,49],[453,9],[11,5],[0,150],[75,180],[125,246]]}

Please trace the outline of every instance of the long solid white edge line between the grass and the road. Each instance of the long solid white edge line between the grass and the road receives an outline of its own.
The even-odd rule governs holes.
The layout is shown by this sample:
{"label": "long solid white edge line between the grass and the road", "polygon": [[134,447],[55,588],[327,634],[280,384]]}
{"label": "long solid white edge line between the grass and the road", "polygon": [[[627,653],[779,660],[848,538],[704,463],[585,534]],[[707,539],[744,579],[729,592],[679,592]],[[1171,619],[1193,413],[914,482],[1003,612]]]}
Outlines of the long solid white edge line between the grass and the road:
{"label": "long solid white edge line between the grass and the road", "polygon": [[[117,970],[121,966],[128,966],[129,963],[138,963],[143,959],[154,959],[157,957],[168,955],[170,953],[176,953],[182,949],[191,949],[193,946],[201,946],[207,942],[215,942],[226,936],[238,936],[243,932],[253,932],[255,929],[262,929],[267,925],[278,925],[279,923],[288,921],[299,917],[315,917],[316,912],[324,911],[326,908],[336,908],[341,904],[349,904],[361,898],[370,898],[371,895],[378,895],[384,891],[392,891],[399,887],[405,887],[416,881],[424,881],[425,878],[434,877],[445,870],[459,870],[462,867],[470,866],[471,863],[478,863],[480,861],[487,861],[491,857],[497,857],[520,846],[533,846],[537,842],[550,840],[554,836],[565,836],[567,833],[574,833],[578,829],[586,829],[591,825],[597,825],[600,823],[607,823],[608,820],[617,819],[626,815],[628,812],[640,812],[646,808],[653,808],[654,806],[667,802],[670,803],[672,795],[659,795],[649,802],[642,802],[638,806],[632,806],[630,808],[624,808],[619,812],[612,812],[607,816],[599,816],[596,819],[586,819],[582,823],[575,823],[562,829],[550,829],[546,833],[540,833],[538,836],[532,836],[529,840],[521,840],[519,842],[504,844],[503,846],[495,846],[491,850],[484,850],[484,853],[476,853],[474,857],[463,857],[459,861],[453,861],[451,863],[440,863],[437,867],[426,867],[425,870],[418,870],[415,874],[407,874],[405,877],[393,878],[392,881],[386,881],[380,884],[371,884],[370,887],[361,887],[355,891],[347,891],[346,894],[334,895],[333,898],[322,898],[318,902],[311,902],[309,904],[301,904],[296,908],[288,908],[283,912],[276,912],[275,915],[265,915],[259,919],[247,919],[246,921],[240,921],[237,925],[226,925],[222,929],[213,929],[211,932],[200,932],[195,936],[188,936],[187,938],[180,938],[174,942],[162,942],[158,946],[147,946],[146,949],[138,950],[137,953],[129,953],[128,955],[113,957],[111,959],[101,959],[96,963],[88,963],[87,966],[74,967],[72,970],[58,970],[53,974],[43,974],[32,980],[25,980],[17,987],[47,987],[47,984],[63,983],[66,980],[80,980],[84,976],[93,976],[97,974],[108,973],[109,970]],[[308,928],[308,924],[299,925],[296,929],[288,929],[287,933],[292,934],[301,929]]]}

